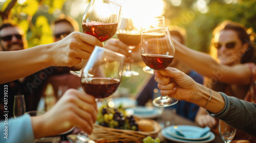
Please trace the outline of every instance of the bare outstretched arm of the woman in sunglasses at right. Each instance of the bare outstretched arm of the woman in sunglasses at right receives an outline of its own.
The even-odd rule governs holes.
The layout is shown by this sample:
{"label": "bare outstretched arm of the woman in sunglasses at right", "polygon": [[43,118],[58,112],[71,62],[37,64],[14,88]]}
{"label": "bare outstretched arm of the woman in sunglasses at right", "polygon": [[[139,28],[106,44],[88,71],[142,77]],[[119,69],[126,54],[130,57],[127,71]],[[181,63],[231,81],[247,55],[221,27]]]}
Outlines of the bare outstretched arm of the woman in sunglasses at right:
{"label": "bare outstretched arm of the woman in sunglasses at right", "polygon": [[197,73],[229,84],[249,84],[251,71],[248,65],[226,66],[219,64],[209,54],[189,49],[175,39],[175,58],[193,68]]}

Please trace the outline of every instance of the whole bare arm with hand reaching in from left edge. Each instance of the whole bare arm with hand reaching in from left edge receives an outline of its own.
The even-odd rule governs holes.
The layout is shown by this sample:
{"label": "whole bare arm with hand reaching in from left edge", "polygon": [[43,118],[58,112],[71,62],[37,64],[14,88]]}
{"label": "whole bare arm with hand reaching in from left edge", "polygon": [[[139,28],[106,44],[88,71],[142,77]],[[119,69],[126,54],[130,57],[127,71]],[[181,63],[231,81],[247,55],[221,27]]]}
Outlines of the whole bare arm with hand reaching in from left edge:
{"label": "whole bare arm with hand reaching in from left edge", "polygon": [[88,59],[97,38],[73,32],[64,39],[26,50],[0,52],[0,84],[26,77],[49,66],[73,66]]}

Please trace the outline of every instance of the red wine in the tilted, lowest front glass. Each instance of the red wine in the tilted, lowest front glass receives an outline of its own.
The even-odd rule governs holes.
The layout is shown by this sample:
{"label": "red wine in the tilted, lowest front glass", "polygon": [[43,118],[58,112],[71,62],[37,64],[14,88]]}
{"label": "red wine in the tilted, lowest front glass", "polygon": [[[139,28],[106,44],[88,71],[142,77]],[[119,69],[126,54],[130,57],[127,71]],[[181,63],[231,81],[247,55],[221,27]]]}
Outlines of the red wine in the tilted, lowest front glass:
{"label": "red wine in the tilted, lowest front glass", "polygon": [[84,92],[91,94],[96,99],[110,97],[120,84],[119,79],[112,78],[84,78],[81,79]]}

